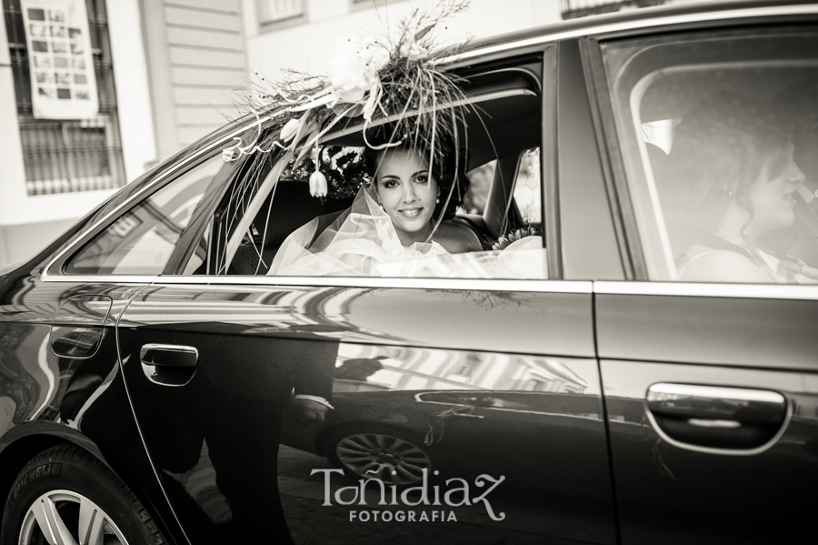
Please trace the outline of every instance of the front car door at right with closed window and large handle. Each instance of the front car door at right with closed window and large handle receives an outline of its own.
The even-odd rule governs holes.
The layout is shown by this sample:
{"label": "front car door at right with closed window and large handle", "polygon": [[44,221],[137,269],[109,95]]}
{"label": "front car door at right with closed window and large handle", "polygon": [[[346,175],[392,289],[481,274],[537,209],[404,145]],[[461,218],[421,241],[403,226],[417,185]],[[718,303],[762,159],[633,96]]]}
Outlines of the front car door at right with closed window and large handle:
{"label": "front car door at right with closed window and large handle", "polygon": [[813,539],[818,287],[780,283],[816,281],[816,39],[801,15],[584,43],[634,256],[594,284],[623,543]]}

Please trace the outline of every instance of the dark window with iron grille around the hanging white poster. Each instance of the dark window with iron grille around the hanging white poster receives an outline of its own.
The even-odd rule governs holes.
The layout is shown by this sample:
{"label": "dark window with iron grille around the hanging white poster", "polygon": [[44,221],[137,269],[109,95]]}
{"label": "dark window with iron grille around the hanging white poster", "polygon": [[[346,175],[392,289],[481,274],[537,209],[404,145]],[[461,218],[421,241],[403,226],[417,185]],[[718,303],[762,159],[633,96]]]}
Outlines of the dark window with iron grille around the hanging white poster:
{"label": "dark window with iron grille around the hanging white poster", "polygon": [[125,186],[105,0],[85,0],[99,113],[91,119],[35,119],[20,0],[3,0],[28,195]]}

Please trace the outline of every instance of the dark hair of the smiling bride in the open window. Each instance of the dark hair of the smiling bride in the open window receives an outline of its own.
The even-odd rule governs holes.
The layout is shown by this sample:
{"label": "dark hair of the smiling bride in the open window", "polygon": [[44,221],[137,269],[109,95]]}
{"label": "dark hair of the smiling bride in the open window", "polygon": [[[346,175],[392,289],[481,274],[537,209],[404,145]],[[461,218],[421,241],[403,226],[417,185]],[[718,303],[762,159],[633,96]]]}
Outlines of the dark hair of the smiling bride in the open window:
{"label": "dark hair of the smiling bride in the open window", "polygon": [[[397,150],[417,152],[426,161],[432,155],[430,146],[420,139],[417,142],[407,142],[384,149],[366,147],[364,148],[364,168],[373,183],[375,172],[384,154]],[[465,149],[457,149],[452,138],[438,137],[436,139],[431,174],[437,182],[437,187],[440,187],[440,202],[434,207],[434,219],[441,217],[441,214],[443,214],[443,219],[451,219],[457,207],[463,205],[470,184],[469,179],[465,177],[468,162],[468,152]],[[452,197],[449,198],[450,194]],[[446,202],[447,199],[448,202]]]}

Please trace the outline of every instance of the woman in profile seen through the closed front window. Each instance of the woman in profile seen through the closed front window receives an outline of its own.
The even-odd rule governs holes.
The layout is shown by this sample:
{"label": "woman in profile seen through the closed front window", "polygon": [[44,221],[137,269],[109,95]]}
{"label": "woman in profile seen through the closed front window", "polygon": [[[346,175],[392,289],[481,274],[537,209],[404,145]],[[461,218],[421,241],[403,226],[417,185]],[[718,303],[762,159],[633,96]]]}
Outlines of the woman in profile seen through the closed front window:
{"label": "woman in profile seen through the closed front window", "polygon": [[681,190],[671,232],[679,277],[693,281],[818,283],[818,269],[773,251],[764,238],[794,221],[793,127],[773,106],[708,96],[674,131],[671,168]]}

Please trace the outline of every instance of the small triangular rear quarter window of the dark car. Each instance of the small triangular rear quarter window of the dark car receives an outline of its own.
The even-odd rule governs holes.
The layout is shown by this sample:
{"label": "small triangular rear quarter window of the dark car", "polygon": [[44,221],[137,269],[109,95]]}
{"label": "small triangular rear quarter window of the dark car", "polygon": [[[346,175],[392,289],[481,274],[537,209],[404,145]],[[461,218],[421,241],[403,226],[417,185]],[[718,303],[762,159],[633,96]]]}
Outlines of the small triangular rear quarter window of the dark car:
{"label": "small triangular rear quarter window of the dark car", "polygon": [[215,156],[145,198],[72,257],[65,273],[162,273],[205,189],[224,167],[222,156]]}

